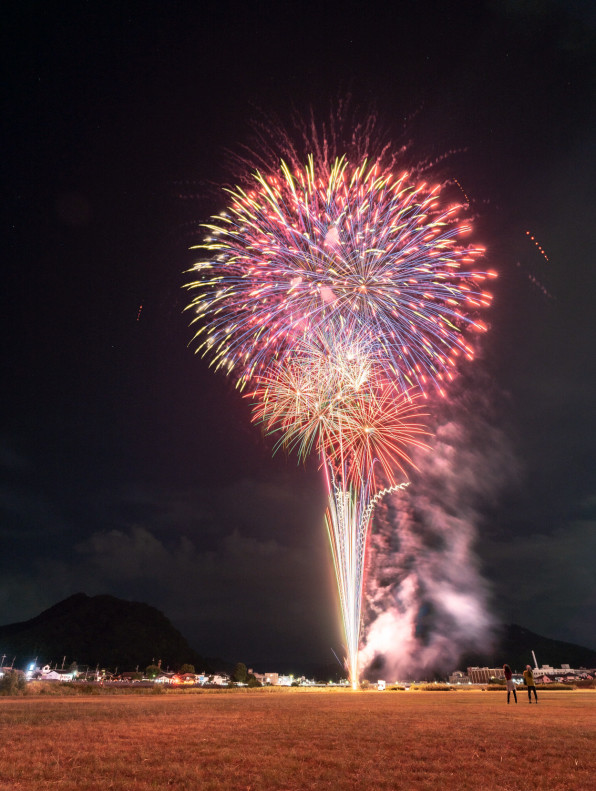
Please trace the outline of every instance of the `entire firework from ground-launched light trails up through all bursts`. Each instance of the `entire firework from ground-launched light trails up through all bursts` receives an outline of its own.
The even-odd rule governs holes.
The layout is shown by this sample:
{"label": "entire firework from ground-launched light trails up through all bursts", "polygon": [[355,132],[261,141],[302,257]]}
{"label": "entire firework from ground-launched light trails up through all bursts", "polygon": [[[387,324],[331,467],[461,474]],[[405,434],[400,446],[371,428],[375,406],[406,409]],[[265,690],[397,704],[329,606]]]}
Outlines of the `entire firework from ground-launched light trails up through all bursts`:
{"label": "entire firework from ground-launched light trails up through all bursts", "polygon": [[462,330],[485,329],[481,284],[495,275],[470,269],[483,250],[462,240],[464,206],[379,162],[310,156],[228,192],[188,286],[197,351],[246,390],[277,446],[318,454],[356,686],[375,504],[407,485],[420,398],[444,395],[458,358],[472,359]]}

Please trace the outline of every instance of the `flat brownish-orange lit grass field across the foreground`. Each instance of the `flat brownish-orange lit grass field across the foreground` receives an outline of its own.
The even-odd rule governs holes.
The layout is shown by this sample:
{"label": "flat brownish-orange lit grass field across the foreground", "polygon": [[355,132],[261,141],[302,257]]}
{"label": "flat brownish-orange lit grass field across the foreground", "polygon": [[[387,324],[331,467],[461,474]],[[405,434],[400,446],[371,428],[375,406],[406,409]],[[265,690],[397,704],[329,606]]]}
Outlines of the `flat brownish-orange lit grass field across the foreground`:
{"label": "flat brownish-orange lit grass field across the foreground", "polygon": [[596,789],[596,693],[0,699],[2,791]]}

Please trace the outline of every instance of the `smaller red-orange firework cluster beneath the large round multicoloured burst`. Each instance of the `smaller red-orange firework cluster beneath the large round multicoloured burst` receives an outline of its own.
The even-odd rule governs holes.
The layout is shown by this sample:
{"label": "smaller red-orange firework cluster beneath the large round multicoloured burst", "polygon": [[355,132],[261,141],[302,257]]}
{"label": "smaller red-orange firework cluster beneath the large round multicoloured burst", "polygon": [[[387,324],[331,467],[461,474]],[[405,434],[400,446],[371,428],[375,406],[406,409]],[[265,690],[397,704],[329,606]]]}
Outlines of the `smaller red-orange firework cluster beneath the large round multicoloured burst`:
{"label": "smaller red-orange firework cluster beneath the large round multicoloured burst", "polygon": [[384,481],[411,464],[411,447],[424,447],[425,417],[416,393],[401,393],[366,344],[349,335],[302,338],[282,363],[256,377],[248,396],[253,418],[277,445],[300,457],[313,448],[346,486]]}

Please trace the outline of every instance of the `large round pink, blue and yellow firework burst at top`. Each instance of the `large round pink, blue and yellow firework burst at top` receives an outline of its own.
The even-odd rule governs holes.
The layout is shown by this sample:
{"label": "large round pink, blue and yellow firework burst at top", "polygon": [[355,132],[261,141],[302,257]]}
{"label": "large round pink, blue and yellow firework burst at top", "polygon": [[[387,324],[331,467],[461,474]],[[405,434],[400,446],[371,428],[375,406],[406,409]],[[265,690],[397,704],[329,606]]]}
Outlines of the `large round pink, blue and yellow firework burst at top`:
{"label": "large round pink, blue and yellow firework burst at top", "polygon": [[252,186],[230,190],[197,248],[197,349],[244,387],[301,336],[343,320],[383,347],[402,389],[442,392],[458,356],[473,356],[462,328],[484,330],[476,313],[491,299],[479,284],[493,273],[469,269],[483,250],[461,242],[463,207],[442,205],[439,185],[345,159],[282,163]]}

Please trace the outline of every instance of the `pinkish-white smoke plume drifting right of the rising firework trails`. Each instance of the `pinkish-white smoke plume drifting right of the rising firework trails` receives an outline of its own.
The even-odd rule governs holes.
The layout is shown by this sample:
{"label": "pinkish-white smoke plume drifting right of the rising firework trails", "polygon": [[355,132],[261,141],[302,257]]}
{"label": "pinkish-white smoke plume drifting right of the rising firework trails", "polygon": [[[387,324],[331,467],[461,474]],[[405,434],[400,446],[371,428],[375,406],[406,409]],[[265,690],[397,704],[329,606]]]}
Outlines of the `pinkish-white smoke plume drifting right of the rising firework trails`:
{"label": "pinkish-white smoke plume drifting right of the rising firework trails", "polygon": [[370,678],[428,678],[492,644],[490,589],[474,546],[482,508],[517,465],[486,403],[463,394],[443,408],[429,444],[411,485],[375,513],[360,652]]}

